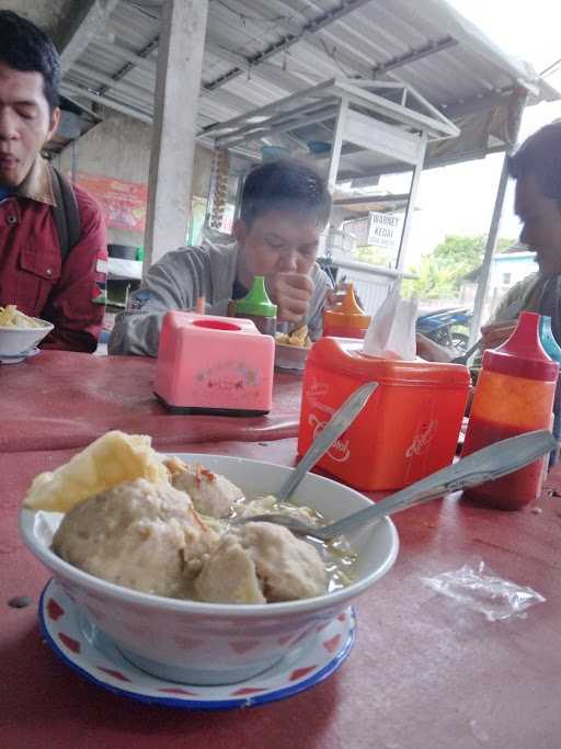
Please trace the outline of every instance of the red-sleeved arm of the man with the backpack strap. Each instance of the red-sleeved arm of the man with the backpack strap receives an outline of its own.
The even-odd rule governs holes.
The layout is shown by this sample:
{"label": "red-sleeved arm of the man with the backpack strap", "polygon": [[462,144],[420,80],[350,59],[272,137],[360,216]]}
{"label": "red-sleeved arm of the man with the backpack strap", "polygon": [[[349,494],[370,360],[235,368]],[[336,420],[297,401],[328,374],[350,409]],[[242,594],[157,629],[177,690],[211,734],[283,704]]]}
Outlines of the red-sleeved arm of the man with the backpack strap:
{"label": "red-sleeved arm of the man with the backpack strap", "polygon": [[92,352],[98,348],[105,307],[96,304],[105,282],[107,243],[105,224],[98,203],[76,189],[80,212],[80,240],[65,263],[43,309],[43,317],[55,326],[43,341],[44,349]]}

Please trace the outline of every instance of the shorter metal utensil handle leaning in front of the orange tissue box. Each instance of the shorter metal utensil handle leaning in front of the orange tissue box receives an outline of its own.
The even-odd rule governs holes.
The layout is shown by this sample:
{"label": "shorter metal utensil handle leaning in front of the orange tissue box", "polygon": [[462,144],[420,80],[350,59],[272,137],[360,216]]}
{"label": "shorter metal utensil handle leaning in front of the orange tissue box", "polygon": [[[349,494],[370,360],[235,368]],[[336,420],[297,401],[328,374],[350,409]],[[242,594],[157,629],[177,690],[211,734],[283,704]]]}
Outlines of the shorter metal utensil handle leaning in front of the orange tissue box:
{"label": "shorter metal utensil handle leaning in front of the orange tissue box", "polygon": [[335,440],[343,434],[345,429],[353,423],[377,387],[378,383],[366,383],[366,385],[362,385],[345,400],[335,413],[333,413],[327,425],[313,440],[308,452],[300,463],[298,463],[295,470],[283,484],[280,489],[275,492],[277,499],[288,499],[290,495],[294,493],[296,487],[300,484],[308,470],[316,465],[320,457],[331,447],[333,442],[335,442]]}

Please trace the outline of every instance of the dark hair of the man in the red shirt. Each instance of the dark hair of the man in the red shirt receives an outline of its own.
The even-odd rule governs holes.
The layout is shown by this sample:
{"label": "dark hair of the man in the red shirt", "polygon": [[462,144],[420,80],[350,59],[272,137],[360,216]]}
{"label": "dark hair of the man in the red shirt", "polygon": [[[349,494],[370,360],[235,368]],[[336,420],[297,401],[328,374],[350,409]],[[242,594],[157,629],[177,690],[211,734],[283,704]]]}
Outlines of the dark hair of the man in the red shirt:
{"label": "dark hair of the man in the red shirt", "polygon": [[0,63],[14,70],[41,72],[49,111],[58,106],[58,52],[41,29],[10,10],[0,11]]}

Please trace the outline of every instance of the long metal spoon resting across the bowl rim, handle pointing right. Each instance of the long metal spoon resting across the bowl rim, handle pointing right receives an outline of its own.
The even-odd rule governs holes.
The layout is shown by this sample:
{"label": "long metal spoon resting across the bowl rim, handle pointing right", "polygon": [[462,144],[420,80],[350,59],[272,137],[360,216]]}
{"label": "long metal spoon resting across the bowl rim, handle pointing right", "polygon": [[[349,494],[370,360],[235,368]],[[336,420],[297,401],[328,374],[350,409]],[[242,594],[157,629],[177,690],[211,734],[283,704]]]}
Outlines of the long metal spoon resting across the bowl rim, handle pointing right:
{"label": "long metal spoon resting across the bowl rim, handle pointing right", "polygon": [[359,512],[354,512],[325,527],[314,527],[294,518],[278,514],[241,518],[236,523],[256,521],[276,523],[298,535],[330,541],[334,536],[354,531],[357,527],[364,527],[385,515],[407,510],[414,504],[442,497],[450,491],[458,491],[506,476],[506,474],[523,468],[541,455],[551,452],[556,446],[556,439],[545,429],[511,436],[507,440],[478,450],[454,465],[437,470],[421,481],[415,481],[405,489],[386,497],[381,502]]}

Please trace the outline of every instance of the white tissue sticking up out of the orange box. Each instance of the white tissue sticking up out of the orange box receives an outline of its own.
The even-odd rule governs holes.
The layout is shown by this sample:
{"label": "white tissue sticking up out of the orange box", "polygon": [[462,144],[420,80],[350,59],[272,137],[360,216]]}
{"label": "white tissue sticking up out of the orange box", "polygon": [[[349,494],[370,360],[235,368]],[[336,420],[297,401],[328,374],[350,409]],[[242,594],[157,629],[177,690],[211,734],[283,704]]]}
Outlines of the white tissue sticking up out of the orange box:
{"label": "white tissue sticking up out of the orange box", "polygon": [[400,282],[393,284],[368,326],[363,345],[363,353],[367,356],[404,361],[415,359],[417,300],[402,299],[399,293],[400,285]]}

